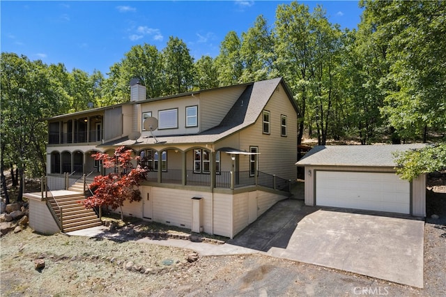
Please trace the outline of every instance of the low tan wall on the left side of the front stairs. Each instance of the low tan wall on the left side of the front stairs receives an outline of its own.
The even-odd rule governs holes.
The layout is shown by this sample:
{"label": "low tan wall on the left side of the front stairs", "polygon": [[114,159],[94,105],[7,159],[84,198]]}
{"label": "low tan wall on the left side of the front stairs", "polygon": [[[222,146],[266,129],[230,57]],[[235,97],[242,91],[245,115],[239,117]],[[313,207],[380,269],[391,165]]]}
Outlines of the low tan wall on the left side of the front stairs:
{"label": "low tan wall on the left side of the front stairs", "polygon": [[40,234],[51,235],[60,232],[45,201],[29,198],[29,227]]}

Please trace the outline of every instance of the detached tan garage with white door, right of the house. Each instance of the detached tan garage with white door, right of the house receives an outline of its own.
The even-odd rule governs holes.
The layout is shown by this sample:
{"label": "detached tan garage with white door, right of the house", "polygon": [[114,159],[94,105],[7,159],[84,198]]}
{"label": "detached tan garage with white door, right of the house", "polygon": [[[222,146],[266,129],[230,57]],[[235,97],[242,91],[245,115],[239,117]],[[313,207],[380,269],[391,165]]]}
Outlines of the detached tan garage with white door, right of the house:
{"label": "detached tan garage with white door, right of the house", "polygon": [[426,144],[315,146],[305,167],[305,204],[426,216],[426,174],[412,182],[395,172],[394,153]]}

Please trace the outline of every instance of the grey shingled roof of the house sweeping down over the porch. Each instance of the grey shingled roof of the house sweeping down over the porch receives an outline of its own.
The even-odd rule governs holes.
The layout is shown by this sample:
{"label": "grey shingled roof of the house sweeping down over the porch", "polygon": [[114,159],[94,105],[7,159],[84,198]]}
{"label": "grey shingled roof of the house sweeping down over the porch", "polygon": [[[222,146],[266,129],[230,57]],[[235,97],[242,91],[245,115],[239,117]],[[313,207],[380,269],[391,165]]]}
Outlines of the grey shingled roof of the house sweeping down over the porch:
{"label": "grey shingled roof of the house sweeping down over the porch", "polygon": [[[243,128],[247,128],[249,125],[255,123],[279,84],[282,84],[296,114],[298,114],[298,107],[282,77],[243,84],[246,86],[245,91],[236,100],[219,125],[194,135],[156,135],[158,142],[167,142],[169,144],[212,143],[228,137]],[[143,146],[148,144],[155,144],[155,139],[152,137],[141,137],[137,139],[136,143],[134,140],[128,139],[122,141],[121,139],[121,141],[105,143],[103,146]]]}

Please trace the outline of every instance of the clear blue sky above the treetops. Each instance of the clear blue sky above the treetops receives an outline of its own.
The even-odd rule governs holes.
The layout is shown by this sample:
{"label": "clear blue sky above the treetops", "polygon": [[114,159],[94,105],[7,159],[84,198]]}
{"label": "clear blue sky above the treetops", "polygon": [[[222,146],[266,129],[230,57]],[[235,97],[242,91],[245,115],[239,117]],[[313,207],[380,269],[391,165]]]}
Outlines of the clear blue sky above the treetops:
{"label": "clear blue sky above the treetops", "polygon": [[[229,31],[238,36],[263,15],[270,26],[279,4],[290,1],[1,1],[1,52],[44,63],[63,63],[104,75],[133,45],[162,50],[169,36],[182,39],[194,59],[217,56]],[[330,22],[357,28],[357,1],[299,1],[321,4]]]}

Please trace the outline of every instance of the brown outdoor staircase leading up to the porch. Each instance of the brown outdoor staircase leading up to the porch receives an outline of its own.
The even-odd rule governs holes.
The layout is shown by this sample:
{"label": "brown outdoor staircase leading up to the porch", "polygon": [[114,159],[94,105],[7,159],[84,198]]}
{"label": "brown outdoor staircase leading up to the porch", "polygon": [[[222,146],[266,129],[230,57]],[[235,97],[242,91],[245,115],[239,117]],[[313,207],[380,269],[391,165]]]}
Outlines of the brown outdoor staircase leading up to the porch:
{"label": "brown outdoor staircase leading up to the porch", "polygon": [[59,207],[63,208],[63,232],[67,233],[100,226],[102,222],[95,211],[93,209],[87,209],[84,204],[79,203],[79,201],[85,199],[84,185],[82,183],[75,183],[68,190],[72,194],[54,197],[55,201],[51,201],[52,208],[58,218],[60,218]]}

